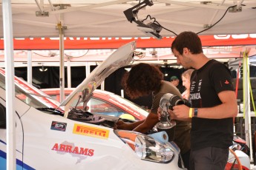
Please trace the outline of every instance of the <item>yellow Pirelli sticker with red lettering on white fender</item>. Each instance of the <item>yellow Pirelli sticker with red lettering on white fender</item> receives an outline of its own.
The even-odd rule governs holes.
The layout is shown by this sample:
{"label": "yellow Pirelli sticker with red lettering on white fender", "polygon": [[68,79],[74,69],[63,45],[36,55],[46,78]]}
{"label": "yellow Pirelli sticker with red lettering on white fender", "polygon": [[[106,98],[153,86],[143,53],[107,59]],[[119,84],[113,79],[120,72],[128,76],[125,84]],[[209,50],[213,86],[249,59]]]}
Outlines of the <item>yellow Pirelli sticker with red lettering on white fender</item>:
{"label": "yellow Pirelli sticker with red lettering on white fender", "polygon": [[73,133],[90,137],[108,139],[109,130],[92,126],[79,125],[75,123],[73,126]]}

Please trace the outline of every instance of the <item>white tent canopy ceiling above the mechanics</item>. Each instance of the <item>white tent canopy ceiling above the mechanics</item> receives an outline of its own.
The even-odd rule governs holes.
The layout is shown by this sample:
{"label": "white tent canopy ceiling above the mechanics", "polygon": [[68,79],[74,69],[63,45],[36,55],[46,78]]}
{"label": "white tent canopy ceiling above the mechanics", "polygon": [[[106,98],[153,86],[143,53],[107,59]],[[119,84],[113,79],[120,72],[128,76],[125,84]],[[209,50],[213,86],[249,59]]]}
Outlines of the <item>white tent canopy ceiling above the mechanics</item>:
{"label": "white tent canopy ceiling above the mechanics", "polygon": [[[134,7],[139,1],[131,0],[13,0],[13,36],[58,37],[57,24],[67,27],[65,37],[144,37],[148,36],[130,23],[123,11]],[[150,15],[166,29],[179,34],[186,30],[198,33],[205,25],[217,22],[228,7],[237,5],[241,12],[227,12],[226,16],[200,35],[256,33],[255,0],[154,0],[154,5],[139,10],[141,21]],[[63,8],[63,9],[59,9]],[[49,16],[36,16],[36,13]],[[2,12],[0,13],[0,15]],[[2,20],[2,16],[1,16]],[[147,20],[148,21],[148,20]],[[0,21],[0,37],[3,37]],[[174,34],[163,29],[162,36]]]}

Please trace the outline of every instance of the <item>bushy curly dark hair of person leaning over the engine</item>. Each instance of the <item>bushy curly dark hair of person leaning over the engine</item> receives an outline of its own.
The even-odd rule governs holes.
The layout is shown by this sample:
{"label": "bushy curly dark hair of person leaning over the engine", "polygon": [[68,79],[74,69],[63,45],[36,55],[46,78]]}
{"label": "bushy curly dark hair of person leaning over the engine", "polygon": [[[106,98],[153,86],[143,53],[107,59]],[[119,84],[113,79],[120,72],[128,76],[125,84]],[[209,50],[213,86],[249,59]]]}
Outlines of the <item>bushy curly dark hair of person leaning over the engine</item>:
{"label": "bushy curly dark hair of person leaning over the engine", "polygon": [[163,72],[151,64],[140,63],[131,67],[122,77],[122,87],[131,99],[160,90]]}

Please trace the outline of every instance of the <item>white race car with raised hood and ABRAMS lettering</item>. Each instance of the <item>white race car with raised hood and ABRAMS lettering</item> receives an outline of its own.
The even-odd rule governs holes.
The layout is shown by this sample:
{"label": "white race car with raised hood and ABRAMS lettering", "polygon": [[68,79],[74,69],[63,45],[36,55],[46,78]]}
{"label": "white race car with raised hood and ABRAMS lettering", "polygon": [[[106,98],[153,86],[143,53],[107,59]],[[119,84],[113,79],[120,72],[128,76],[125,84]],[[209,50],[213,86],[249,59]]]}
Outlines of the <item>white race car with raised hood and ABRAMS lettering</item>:
{"label": "white race car with raised hood and ABRAMS lettering", "polygon": [[[119,118],[70,107],[82,100],[86,108],[91,92],[116,69],[131,63],[135,48],[132,41],[116,50],[60,106],[15,78],[16,169],[185,169],[175,143],[114,130]],[[4,73],[0,69],[0,169],[7,169]]]}

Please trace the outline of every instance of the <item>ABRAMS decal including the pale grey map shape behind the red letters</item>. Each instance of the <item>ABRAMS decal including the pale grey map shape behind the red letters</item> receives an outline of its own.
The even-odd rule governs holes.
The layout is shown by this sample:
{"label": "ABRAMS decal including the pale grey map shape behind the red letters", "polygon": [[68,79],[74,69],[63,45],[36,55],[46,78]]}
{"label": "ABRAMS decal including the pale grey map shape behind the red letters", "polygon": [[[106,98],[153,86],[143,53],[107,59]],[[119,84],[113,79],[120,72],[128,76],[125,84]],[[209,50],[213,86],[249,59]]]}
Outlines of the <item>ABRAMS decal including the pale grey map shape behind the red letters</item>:
{"label": "ABRAMS decal including the pale grey map shape behind the red letters", "polygon": [[75,146],[74,143],[69,143],[68,141],[55,143],[51,150],[56,151],[57,154],[70,154],[72,157],[76,157],[76,164],[81,163],[81,161],[85,160],[87,157],[92,157],[94,154],[94,149]]}

